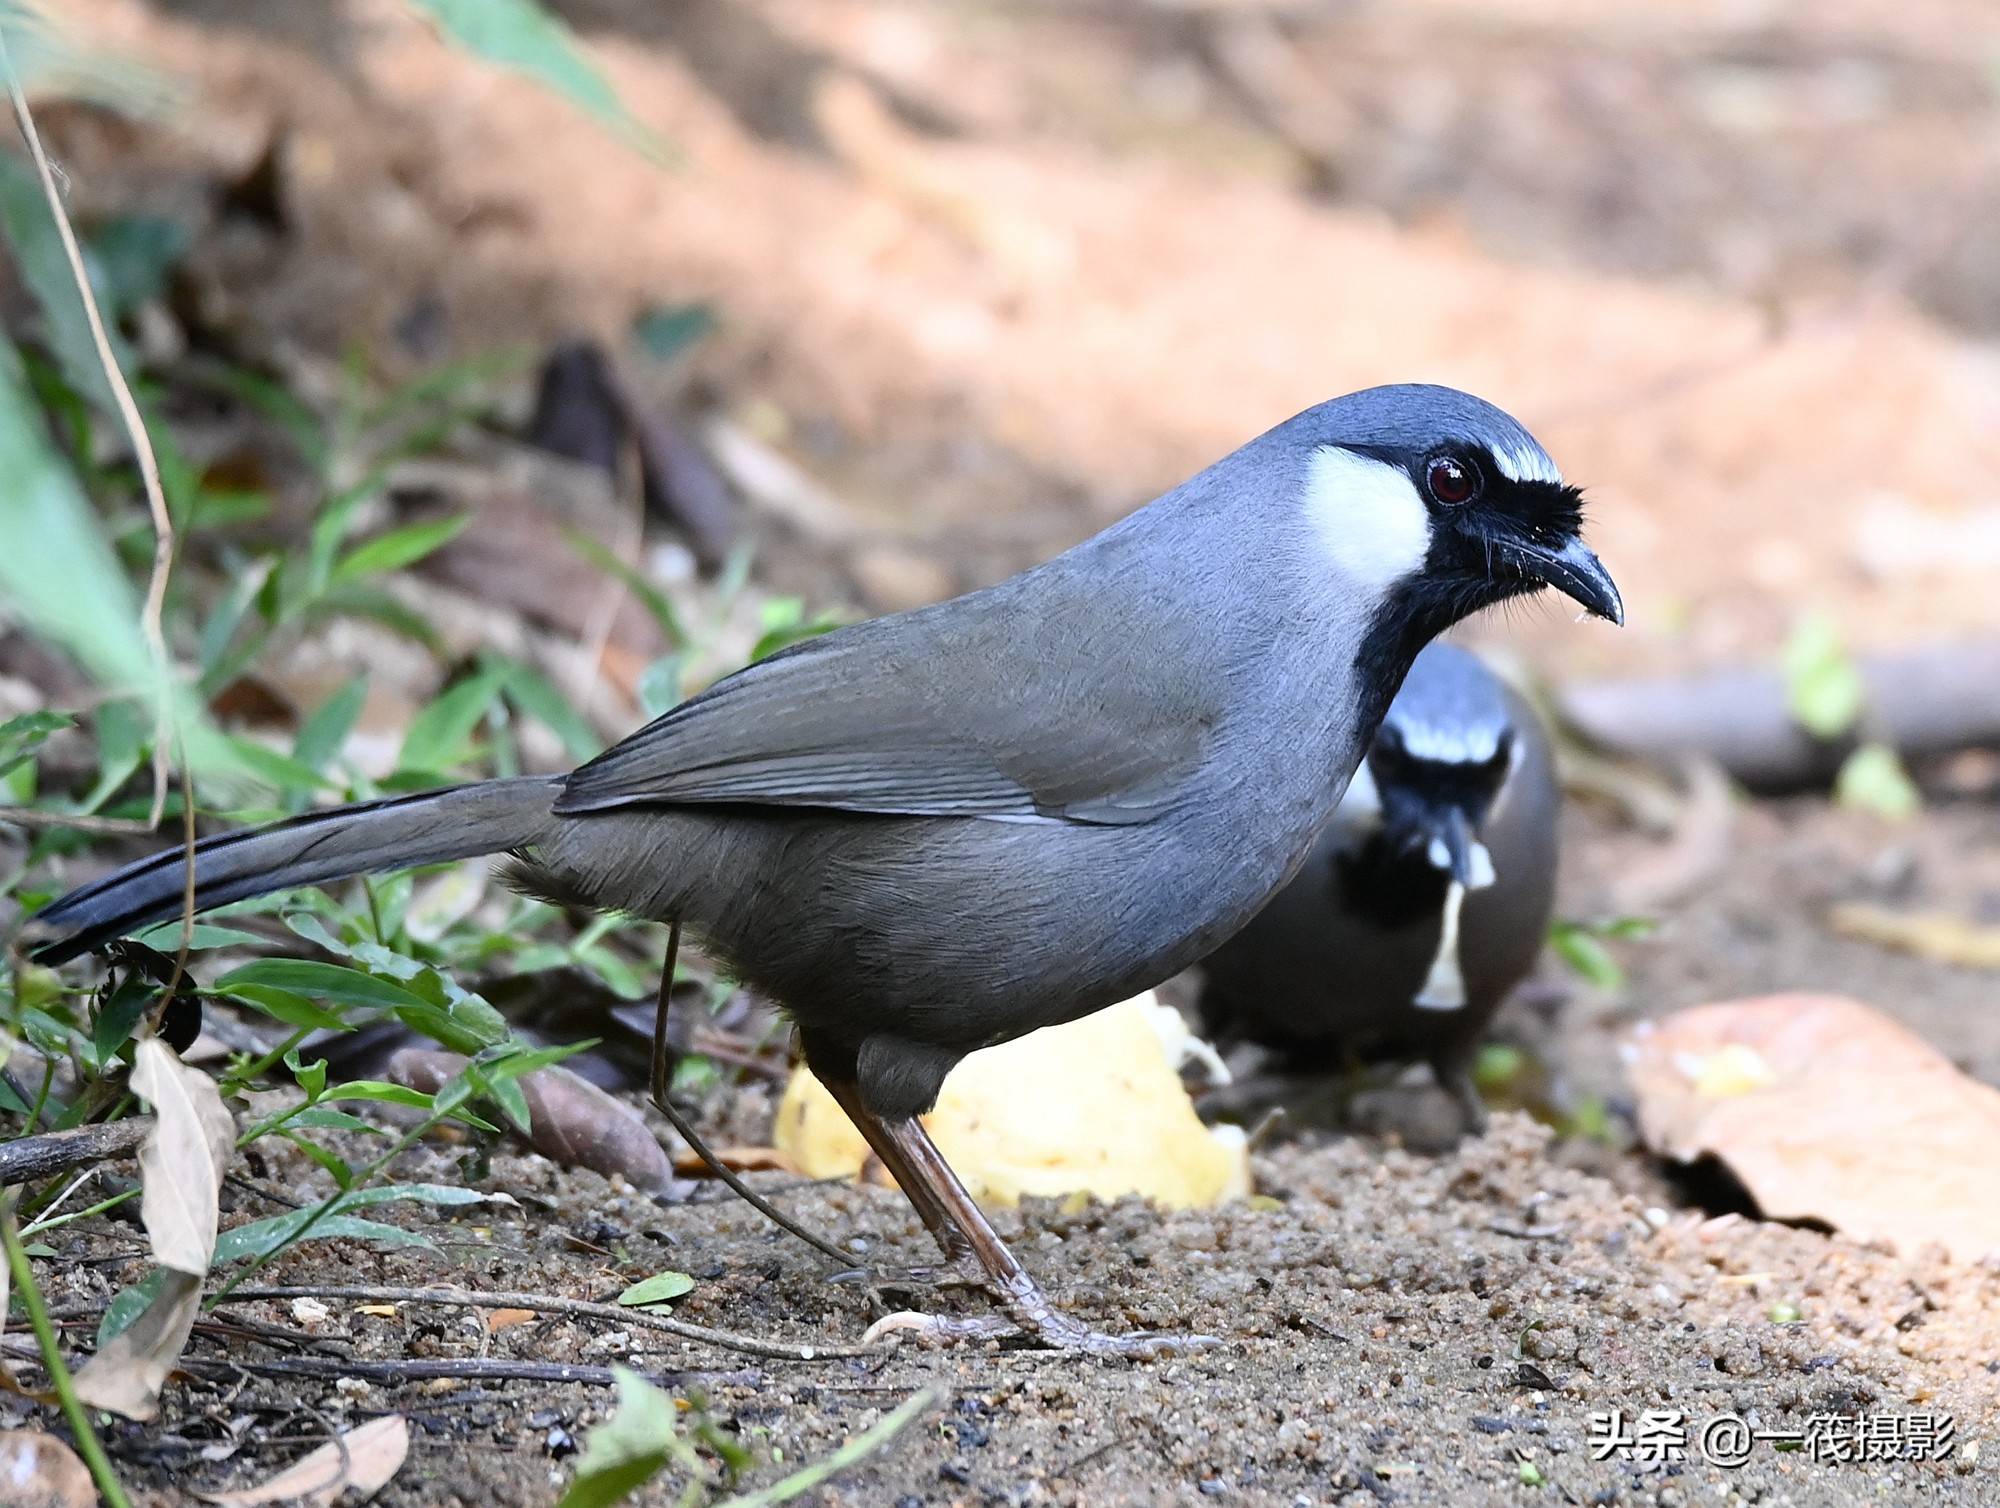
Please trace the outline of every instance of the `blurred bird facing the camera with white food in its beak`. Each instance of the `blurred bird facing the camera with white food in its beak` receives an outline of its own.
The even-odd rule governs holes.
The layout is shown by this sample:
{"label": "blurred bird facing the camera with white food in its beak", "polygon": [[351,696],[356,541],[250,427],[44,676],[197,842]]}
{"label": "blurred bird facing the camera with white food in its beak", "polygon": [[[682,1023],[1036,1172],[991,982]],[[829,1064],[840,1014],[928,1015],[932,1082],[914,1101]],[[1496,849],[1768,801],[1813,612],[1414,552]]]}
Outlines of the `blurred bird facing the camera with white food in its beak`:
{"label": "blurred bird facing the camera with white food in its beak", "polygon": [[1204,1030],[1286,1068],[1422,1058],[1482,1128],[1472,1052],[1542,952],[1558,802],[1534,708],[1428,646],[1312,856],[1202,964]]}

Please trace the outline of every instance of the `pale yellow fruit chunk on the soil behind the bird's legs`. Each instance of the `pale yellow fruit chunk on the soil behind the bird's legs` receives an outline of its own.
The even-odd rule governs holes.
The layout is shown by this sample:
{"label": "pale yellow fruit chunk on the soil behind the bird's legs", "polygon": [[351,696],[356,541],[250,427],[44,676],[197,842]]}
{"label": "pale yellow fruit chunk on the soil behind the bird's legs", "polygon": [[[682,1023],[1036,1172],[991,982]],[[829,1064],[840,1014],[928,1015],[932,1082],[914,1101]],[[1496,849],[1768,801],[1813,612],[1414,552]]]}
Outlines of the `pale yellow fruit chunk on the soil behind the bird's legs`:
{"label": "pale yellow fruit chunk on the soil behind the bird's legs", "polygon": [[[1202,1208],[1244,1196],[1244,1132],[1204,1126],[1194,1114],[1178,1056],[1200,1048],[1174,1042],[1186,1030],[1170,1016],[1148,992],[974,1052],[944,1080],[924,1126],[972,1196],[992,1204],[1018,1204],[1022,1194],[1142,1194]],[[806,1068],[784,1090],[772,1140],[808,1178],[854,1176],[868,1156]]]}

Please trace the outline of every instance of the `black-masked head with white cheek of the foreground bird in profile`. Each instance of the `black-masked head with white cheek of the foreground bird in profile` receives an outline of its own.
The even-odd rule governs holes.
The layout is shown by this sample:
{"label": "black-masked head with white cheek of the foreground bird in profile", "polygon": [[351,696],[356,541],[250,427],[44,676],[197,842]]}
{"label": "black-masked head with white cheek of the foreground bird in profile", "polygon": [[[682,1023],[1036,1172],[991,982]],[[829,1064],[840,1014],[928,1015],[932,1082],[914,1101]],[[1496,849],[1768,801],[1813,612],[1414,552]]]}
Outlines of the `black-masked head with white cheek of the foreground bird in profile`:
{"label": "black-masked head with white cheek of the foreground bird in profile", "polygon": [[1624,622],[1582,540],[1582,492],[1492,404],[1454,388],[1368,388],[1286,428],[1310,446],[1304,502],[1318,546],[1348,586],[1378,598],[1378,622],[1406,652],[1544,586]]}

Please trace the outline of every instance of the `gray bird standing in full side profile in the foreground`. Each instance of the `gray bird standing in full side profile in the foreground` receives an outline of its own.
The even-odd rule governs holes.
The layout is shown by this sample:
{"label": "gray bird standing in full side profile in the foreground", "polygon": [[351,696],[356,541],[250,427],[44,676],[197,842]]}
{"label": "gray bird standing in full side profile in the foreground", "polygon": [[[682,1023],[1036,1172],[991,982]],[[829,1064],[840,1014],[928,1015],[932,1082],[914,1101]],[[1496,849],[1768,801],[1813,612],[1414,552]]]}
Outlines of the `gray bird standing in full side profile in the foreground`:
{"label": "gray bird standing in full side profile in the foreground", "polygon": [[[568,776],[364,802],[196,850],[196,906],[512,850],[540,894],[684,924],[800,1048],[960,1270],[1050,1304],[916,1116],[964,1054],[1214,952],[1334,814],[1416,652],[1542,586],[1622,622],[1580,494],[1450,388],[1310,408],[1012,580],[842,628]],[[168,850],[52,904],[70,958],[180,908]],[[932,1334],[996,1334],[998,1318]]]}

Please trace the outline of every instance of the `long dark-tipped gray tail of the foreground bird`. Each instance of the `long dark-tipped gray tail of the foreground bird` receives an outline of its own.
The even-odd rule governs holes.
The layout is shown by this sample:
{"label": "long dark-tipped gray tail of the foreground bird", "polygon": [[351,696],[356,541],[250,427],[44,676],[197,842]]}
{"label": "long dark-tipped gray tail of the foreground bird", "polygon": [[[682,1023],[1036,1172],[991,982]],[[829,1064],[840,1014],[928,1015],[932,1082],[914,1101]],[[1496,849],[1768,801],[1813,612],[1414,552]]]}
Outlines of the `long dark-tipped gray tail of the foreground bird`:
{"label": "long dark-tipped gray tail of the foreground bird", "polygon": [[[222,832],[194,846],[194,910],[350,874],[526,848],[558,820],[550,806],[560,788],[560,776],[482,780]],[[36,914],[38,930],[60,932],[36,950],[36,962],[60,964],[178,916],[184,886],[186,850],[178,846],[78,886]]]}

